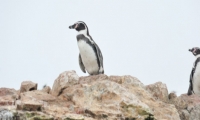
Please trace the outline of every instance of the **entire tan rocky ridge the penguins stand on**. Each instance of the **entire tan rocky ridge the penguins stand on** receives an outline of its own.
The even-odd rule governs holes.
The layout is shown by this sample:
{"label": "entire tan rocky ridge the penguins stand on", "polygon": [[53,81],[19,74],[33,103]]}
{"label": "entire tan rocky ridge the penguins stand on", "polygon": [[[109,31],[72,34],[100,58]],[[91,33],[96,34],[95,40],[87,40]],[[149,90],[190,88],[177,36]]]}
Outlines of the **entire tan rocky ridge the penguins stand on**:
{"label": "entire tan rocky ridge the penguins stand on", "polygon": [[129,75],[78,77],[66,71],[52,90],[37,90],[31,81],[22,82],[19,92],[0,88],[1,119],[200,120],[200,97],[168,95],[165,84],[145,86]]}

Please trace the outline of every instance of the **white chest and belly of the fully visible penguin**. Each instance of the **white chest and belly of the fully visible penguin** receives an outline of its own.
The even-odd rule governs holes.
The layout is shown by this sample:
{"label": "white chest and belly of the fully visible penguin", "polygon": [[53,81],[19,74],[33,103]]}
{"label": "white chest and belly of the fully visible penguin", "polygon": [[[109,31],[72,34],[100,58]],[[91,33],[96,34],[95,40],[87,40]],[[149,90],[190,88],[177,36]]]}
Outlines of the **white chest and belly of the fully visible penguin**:
{"label": "white chest and belly of the fully visible penguin", "polygon": [[85,69],[89,74],[98,74],[97,57],[92,47],[84,40],[78,41],[79,52]]}

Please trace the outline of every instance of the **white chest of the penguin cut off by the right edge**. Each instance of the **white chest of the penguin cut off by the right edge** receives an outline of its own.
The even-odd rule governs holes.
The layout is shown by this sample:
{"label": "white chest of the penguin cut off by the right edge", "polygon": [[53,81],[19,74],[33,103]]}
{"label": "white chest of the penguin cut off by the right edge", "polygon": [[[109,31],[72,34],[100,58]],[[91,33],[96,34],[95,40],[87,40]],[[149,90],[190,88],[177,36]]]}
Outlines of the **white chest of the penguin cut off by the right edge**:
{"label": "white chest of the penguin cut off by the right edge", "polygon": [[195,94],[200,95],[200,63],[197,64],[193,75],[193,90]]}

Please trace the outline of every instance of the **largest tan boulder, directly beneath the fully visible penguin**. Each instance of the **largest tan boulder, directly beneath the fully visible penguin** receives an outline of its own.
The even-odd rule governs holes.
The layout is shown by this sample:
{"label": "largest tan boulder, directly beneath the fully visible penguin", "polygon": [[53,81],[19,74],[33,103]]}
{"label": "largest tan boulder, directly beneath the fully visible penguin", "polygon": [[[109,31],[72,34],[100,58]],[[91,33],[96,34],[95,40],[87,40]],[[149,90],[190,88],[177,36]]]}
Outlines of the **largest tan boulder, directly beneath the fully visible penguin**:
{"label": "largest tan boulder, directly beneath the fully visible penguin", "polygon": [[[68,86],[59,96],[72,101],[72,112],[94,119],[155,119],[180,120],[174,105],[157,101],[144,85],[131,76],[95,75],[81,77],[79,84]],[[162,109],[160,109],[162,108]]]}

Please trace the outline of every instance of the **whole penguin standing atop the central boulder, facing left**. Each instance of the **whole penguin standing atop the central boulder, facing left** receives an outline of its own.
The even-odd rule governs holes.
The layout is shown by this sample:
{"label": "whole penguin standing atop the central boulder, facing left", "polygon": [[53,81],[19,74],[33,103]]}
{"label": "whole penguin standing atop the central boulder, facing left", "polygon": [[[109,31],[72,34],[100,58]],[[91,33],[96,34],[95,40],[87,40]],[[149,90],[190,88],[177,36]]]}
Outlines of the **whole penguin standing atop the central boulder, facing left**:
{"label": "whole penguin standing atop the central boulder, facing left", "polygon": [[89,34],[89,29],[83,21],[78,21],[69,26],[78,31],[76,35],[79,48],[79,66],[81,70],[90,75],[104,74],[103,55],[99,46]]}

